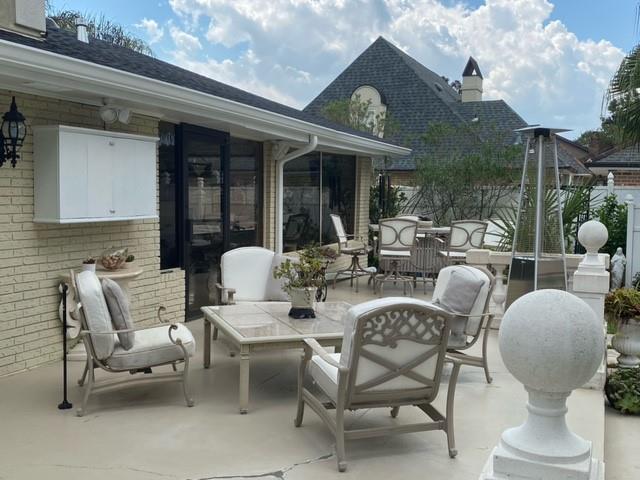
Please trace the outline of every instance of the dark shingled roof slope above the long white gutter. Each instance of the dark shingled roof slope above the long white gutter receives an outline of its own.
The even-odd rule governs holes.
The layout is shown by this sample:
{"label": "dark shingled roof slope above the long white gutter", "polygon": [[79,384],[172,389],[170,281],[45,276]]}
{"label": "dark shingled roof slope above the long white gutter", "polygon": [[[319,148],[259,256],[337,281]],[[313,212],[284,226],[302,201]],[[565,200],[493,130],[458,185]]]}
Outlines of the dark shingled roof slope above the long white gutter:
{"label": "dark shingled roof slope above the long white gutter", "polygon": [[77,40],[75,33],[52,27],[51,22],[47,22],[47,32],[42,39],[20,35],[7,30],[0,30],[0,41],[3,40],[139,75],[166,84],[184,87],[189,90],[254,107],[265,112],[301,120],[337,132],[344,132],[351,136],[362,137],[378,143],[395,145],[390,139],[381,139],[374,135],[354,130],[344,125],[331,122],[322,116],[316,116],[310,112],[268,100],[127,48],[119,47],[95,38],[91,38],[89,43],[81,42]]}

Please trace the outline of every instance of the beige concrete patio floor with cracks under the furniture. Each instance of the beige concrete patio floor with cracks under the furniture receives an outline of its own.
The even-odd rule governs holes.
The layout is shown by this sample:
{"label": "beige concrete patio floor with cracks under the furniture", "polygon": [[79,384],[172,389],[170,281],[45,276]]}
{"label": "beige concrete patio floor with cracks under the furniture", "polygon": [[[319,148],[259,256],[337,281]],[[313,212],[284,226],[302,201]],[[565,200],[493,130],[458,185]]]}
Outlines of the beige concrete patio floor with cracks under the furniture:
{"label": "beige concrete patio floor with cracks under the furniture", "polygon": [[[424,297],[421,291],[418,288],[417,297]],[[385,295],[393,294],[401,290],[385,289]],[[346,282],[329,292],[329,300],[352,303],[371,297],[366,285],[355,295]],[[493,384],[487,385],[482,370],[473,367],[463,367],[458,381],[457,458],[447,455],[443,432],[359,440],[347,443],[348,470],[339,474],[334,442],[315,413],[307,409],[303,426],[293,426],[299,352],[252,357],[251,410],[239,415],[237,357],[214,344],[212,368],[203,369],[202,321],[190,322],[189,327],[198,342],[193,408],[185,406],[177,384],[158,383],[95,395],[87,415],[79,418],[75,409],[56,408],[61,400],[61,362],[0,379],[0,478],[476,479],[500,433],[525,418],[525,391],[502,364],[497,331],[492,331]],[[71,364],[69,396],[76,405],[81,391],[75,381],[81,368]],[[442,393],[446,391],[436,402],[440,408],[445,402]],[[638,478],[639,460],[630,452],[640,440],[640,419],[608,414],[614,428],[607,432],[605,451],[603,405],[600,392],[574,392],[569,425],[594,442],[595,456],[606,453],[608,479]],[[380,425],[424,417],[407,407],[395,420],[387,409],[362,410],[347,418],[350,424]]]}

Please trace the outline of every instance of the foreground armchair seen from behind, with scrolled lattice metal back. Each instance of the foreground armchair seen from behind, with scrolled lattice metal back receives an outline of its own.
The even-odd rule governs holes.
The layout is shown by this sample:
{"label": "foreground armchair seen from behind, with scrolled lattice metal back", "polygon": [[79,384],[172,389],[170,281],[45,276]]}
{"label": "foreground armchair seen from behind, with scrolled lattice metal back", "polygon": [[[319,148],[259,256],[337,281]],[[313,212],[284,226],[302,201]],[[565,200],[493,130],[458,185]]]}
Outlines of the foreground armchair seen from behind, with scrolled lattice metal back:
{"label": "foreground armchair seen from behind, with scrolled lattice metal back", "polygon": [[[457,360],[450,359],[454,366],[446,416],[432,405],[440,388],[450,318],[445,310],[427,302],[388,297],[349,309],[342,353],[330,354],[314,339],[305,340],[298,371],[295,425],[302,425],[304,406],[309,405],[335,436],[338,470],[344,472],[347,468],[345,440],[395,433],[444,430],[449,456],[456,456],[453,402],[460,368]],[[304,387],[307,370],[329,398],[328,403],[323,404]],[[387,407],[395,418],[405,405],[420,408],[433,421],[345,430],[345,410]],[[335,418],[329,409],[336,410]]]}

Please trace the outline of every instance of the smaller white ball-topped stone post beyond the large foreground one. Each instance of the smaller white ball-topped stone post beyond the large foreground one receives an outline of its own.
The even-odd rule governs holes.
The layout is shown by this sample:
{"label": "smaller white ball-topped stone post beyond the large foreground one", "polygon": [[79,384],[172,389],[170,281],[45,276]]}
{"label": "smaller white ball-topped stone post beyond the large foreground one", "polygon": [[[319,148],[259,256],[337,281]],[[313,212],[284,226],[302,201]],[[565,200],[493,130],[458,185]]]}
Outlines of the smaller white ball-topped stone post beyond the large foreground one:
{"label": "smaller white ball-topped stone post beyond the large foreground one", "polygon": [[[584,259],[573,274],[573,293],[585,301],[596,314],[601,328],[606,331],[604,321],[604,297],[609,293],[609,272],[606,265],[606,254],[598,251],[607,243],[609,233],[607,227],[596,220],[589,220],[578,230],[578,241],[587,250]],[[602,390],[607,377],[606,356],[603,354],[601,364],[585,387]]]}

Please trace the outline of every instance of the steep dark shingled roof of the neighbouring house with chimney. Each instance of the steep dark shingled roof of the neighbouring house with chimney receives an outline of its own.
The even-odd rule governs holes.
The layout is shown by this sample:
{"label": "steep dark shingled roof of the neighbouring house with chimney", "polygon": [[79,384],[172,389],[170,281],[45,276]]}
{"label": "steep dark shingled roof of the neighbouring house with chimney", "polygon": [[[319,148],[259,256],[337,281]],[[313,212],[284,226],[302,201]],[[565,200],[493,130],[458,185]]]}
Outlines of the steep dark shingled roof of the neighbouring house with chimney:
{"label": "steep dark shingled roof of the neighbouring house with chimney", "polygon": [[[473,58],[469,59],[467,67],[469,65],[480,74]],[[386,167],[389,170],[415,170],[418,158],[433,153],[433,149],[421,140],[432,123],[479,122],[481,131],[504,132],[505,143],[516,140],[513,130],[527,126],[527,122],[503,100],[462,103],[459,93],[445,78],[382,37],[358,56],[304,111],[320,116],[327,103],[351,98],[361,85],[371,85],[384,95],[389,116],[399,124],[400,133],[392,139],[412,150],[410,155],[394,158]]]}

